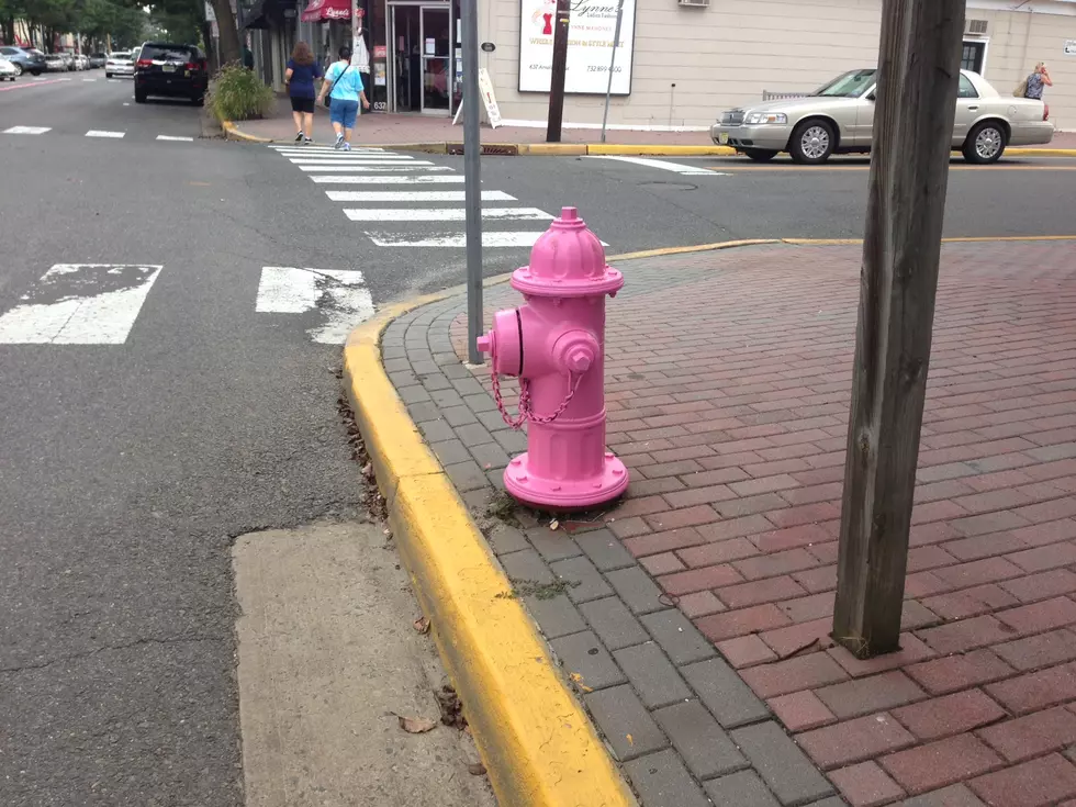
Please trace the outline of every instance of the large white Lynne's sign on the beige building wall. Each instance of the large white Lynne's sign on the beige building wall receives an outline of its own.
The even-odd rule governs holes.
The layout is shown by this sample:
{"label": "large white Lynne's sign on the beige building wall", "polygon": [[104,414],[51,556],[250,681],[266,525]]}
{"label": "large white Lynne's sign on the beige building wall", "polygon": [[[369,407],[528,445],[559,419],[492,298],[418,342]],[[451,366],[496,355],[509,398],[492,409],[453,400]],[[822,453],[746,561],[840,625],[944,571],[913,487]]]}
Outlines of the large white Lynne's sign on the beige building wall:
{"label": "large white Lynne's sign on the beige building wall", "polygon": [[[568,26],[568,72],[564,92],[605,94],[613,59],[617,0],[571,0]],[[613,94],[631,92],[636,0],[624,0],[620,42],[613,65]],[[519,20],[519,91],[549,92],[553,64],[556,0],[522,0]]]}

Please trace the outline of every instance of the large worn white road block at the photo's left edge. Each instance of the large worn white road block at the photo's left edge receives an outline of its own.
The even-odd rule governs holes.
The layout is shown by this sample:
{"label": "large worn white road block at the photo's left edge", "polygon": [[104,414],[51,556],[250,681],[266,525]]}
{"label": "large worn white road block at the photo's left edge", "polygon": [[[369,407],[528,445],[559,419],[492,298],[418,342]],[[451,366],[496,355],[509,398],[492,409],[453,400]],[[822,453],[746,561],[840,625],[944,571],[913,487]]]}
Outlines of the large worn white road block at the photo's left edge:
{"label": "large worn white road block at the photo's left edge", "polygon": [[161,267],[57,264],[0,316],[4,345],[122,345]]}

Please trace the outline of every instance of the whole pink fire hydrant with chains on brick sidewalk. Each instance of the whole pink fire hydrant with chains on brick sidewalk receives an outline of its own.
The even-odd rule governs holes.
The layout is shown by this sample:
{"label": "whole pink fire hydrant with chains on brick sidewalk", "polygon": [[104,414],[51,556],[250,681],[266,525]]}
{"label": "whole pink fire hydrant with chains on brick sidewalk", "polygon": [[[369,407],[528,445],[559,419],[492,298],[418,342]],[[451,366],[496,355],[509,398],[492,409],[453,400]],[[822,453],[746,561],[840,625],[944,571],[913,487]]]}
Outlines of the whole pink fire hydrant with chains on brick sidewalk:
{"label": "whole pink fire hydrant with chains on brick sidewalk", "polygon": [[[605,450],[605,295],[624,277],[605,262],[602,242],[574,208],[564,208],[512,274],[526,305],[498,311],[478,338],[491,354],[493,392],[513,428],[527,427],[527,452],[504,472],[527,504],[583,509],[628,486],[624,463]],[[519,377],[519,416],[501,400],[498,376]]]}

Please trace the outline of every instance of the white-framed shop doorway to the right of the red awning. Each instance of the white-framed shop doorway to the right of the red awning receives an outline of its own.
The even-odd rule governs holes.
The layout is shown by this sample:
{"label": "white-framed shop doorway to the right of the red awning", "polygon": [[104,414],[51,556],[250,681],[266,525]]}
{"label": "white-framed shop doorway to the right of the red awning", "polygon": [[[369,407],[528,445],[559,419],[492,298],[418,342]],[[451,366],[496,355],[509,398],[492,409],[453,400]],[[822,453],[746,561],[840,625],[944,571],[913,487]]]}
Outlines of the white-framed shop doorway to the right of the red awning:
{"label": "white-framed shop doorway to the right of the red awning", "polygon": [[456,47],[449,4],[390,3],[390,98],[393,112],[448,115]]}

